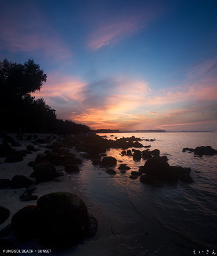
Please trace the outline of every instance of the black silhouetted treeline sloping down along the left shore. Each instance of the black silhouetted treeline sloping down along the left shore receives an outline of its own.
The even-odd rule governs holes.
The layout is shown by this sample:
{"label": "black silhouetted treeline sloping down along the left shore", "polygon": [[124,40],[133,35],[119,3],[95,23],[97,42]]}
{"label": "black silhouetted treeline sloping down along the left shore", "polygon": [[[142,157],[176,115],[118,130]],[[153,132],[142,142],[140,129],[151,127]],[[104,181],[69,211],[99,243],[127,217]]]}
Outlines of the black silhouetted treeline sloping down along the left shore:
{"label": "black silhouetted treeline sloping down along the left shore", "polygon": [[47,75],[33,60],[24,65],[0,61],[0,131],[54,132],[70,134],[89,132],[86,125],[56,118],[56,110],[35,99],[31,93],[40,90]]}

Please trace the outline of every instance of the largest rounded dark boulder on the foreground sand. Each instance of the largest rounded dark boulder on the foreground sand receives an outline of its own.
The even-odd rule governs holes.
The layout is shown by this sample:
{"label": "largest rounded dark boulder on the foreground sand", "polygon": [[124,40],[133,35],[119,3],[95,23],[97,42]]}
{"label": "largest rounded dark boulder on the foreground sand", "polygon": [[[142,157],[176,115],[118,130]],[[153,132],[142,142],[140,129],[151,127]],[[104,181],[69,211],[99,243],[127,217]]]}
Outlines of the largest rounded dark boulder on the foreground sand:
{"label": "largest rounded dark boulder on the foreground sand", "polygon": [[40,240],[44,244],[65,247],[94,236],[97,221],[87,212],[84,202],[71,193],[41,196],[36,206]]}

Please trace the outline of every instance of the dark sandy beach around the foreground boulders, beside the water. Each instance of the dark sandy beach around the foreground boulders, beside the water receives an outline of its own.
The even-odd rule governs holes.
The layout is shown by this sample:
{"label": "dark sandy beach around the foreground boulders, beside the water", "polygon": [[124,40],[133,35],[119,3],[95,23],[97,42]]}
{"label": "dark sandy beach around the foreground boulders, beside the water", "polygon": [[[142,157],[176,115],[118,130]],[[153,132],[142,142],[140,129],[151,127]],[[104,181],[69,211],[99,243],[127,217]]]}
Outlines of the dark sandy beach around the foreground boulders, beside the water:
{"label": "dark sandy beach around the foreground boulders, beside the water", "polygon": [[[8,134],[15,138],[15,134]],[[40,134],[40,138],[45,138],[47,134]],[[27,145],[31,144],[31,141],[17,140],[22,144],[22,147],[15,147],[16,149],[26,149]],[[5,157],[0,159],[0,179],[12,179],[14,175],[25,175],[29,177],[33,168],[28,166],[29,161],[34,161],[36,156],[43,153],[47,148],[45,145],[34,145],[37,149],[33,154],[27,154],[23,161],[17,163],[4,163]],[[78,157],[80,153],[71,148],[70,152],[73,152]],[[108,153],[109,155],[109,153]],[[80,157],[82,159],[82,157]],[[82,159],[84,161],[84,159]],[[144,219],[144,216],[140,215],[131,202],[121,205],[117,202],[109,201],[105,205],[98,204],[94,201],[94,198],[86,193],[88,191],[87,184],[84,183],[84,179],[80,179],[83,172],[88,170],[82,169],[82,164],[79,164],[80,173],[64,173],[63,176],[57,177],[55,180],[49,182],[41,182],[36,184],[36,189],[33,191],[33,195],[43,196],[48,193],[66,191],[73,193],[87,205],[87,208],[91,214],[98,220],[98,230],[94,237],[85,239],[82,243],[71,248],[53,250],[48,246],[40,244],[38,239],[32,239],[27,242],[20,241],[13,232],[9,236],[4,237],[13,241],[13,243],[19,248],[19,255],[26,255],[22,253],[22,250],[34,250],[30,255],[43,255],[49,253],[43,253],[38,250],[51,250],[50,255],[192,255],[194,244],[188,243],[186,239],[181,236],[176,236],[169,230],[165,230],[159,227],[155,223]],[[58,170],[64,172],[63,166],[56,166]],[[29,178],[35,182],[34,178]],[[10,210],[9,218],[1,224],[2,230],[11,222],[13,214],[19,211],[26,205],[36,205],[37,200],[31,200],[27,202],[21,202],[19,197],[24,193],[26,189],[13,189],[6,188],[1,189],[0,193],[0,205]],[[100,189],[99,189],[100,193]]]}

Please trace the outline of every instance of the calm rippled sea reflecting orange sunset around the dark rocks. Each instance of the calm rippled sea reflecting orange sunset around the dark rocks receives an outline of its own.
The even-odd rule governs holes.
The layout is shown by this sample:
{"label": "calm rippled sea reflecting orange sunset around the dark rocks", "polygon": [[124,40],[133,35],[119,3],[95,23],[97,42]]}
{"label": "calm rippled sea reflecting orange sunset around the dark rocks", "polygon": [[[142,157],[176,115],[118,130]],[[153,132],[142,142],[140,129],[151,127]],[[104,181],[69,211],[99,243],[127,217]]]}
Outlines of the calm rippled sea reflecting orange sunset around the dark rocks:
{"label": "calm rippled sea reflecting orange sunset around the dark rocks", "polygon": [[[111,134],[99,134],[100,136]],[[91,161],[84,162],[81,180],[86,185],[87,193],[97,204],[111,209],[112,205],[123,205],[140,214],[142,218],[153,222],[172,232],[197,241],[202,246],[217,246],[217,157],[197,157],[192,153],[182,152],[184,147],[211,145],[217,149],[216,132],[195,133],[128,133],[114,134],[117,138],[134,135],[140,138],[155,138],[155,141],[141,141],[143,145],[151,145],[160,149],[160,155],[168,157],[170,165],[190,167],[193,184],[178,182],[175,185],[165,184],[153,187],[142,184],[139,179],[131,180],[130,172],[138,170],[138,166],[145,161],[133,161],[132,157],[121,156],[120,149],[107,151],[107,156],[114,156],[117,160],[128,164],[131,170],[125,174],[108,175],[100,166],[93,166]],[[144,150],[146,148],[138,148]],[[84,181],[85,180],[85,181]],[[117,211],[114,208],[114,211]],[[117,212],[121,214],[121,212]]]}

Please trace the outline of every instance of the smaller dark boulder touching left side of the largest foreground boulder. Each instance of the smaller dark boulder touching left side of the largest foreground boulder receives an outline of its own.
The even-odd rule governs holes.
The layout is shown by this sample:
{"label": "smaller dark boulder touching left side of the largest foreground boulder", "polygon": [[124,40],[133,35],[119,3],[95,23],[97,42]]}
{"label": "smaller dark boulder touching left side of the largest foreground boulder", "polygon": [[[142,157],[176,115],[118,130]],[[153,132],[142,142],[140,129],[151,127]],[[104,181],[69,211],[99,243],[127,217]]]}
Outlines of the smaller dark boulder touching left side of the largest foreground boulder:
{"label": "smaller dark boulder touching left side of the largest foreground boulder", "polygon": [[24,241],[37,236],[36,206],[27,205],[15,213],[11,219],[11,228],[19,239]]}

